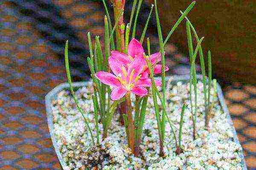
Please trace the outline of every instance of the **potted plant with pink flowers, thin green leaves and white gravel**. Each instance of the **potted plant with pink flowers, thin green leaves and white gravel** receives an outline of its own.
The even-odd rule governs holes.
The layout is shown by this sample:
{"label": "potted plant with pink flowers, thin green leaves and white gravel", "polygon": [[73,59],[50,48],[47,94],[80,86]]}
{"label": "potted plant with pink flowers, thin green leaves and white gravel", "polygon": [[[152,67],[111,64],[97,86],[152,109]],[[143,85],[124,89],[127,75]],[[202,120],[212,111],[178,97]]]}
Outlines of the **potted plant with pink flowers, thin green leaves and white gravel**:
{"label": "potted plant with pink flowers, thin green leaves and white gravel", "polygon": [[[87,62],[92,79],[71,81],[67,41],[64,54],[68,83],[57,86],[46,96],[49,130],[62,168],[246,170],[221,88],[212,80],[211,53],[207,54],[206,78],[201,47],[204,37],[198,38],[186,17],[195,2],[184,12],[180,11],[180,18],[165,40],[156,0],[140,40],[134,37],[142,0],[138,4],[134,0],[126,26],[125,0],[111,1],[113,27],[104,0],[103,3],[106,9],[104,53],[99,37],[96,36],[92,45],[90,32],[87,34],[90,49]],[[149,38],[146,51],[142,44],[153,8],[160,51],[151,54]],[[164,47],[184,18],[190,74],[166,77],[169,68],[165,65]],[[197,41],[195,48],[191,30]],[[198,53],[202,76],[195,72]],[[155,77],[156,74],[160,77]]]}

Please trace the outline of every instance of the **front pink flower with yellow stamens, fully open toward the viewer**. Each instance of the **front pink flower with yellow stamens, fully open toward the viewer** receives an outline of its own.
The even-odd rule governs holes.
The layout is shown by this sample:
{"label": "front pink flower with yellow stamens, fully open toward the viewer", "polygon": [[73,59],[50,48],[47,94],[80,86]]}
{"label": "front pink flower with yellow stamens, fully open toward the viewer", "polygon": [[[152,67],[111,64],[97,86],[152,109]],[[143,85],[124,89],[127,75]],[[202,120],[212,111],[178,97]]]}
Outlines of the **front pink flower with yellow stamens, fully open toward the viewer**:
{"label": "front pink flower with yellow stamens, fully open toward the viewer", "polygon": [[[142,79],[142,73],[145,60],[141,57],[136,57],[128,65],[124,65],[115,57],[110,56],[108,64],[112,73],[99,71],[95,74],[102,83],[111,86],[111,99],[121,99],[127,92],[131,92],[138,96],[145,96],[148,94],[148,90],[145,87],[151,86],[151,79]],[[126,67],[127,66],[127,67]],[[155,80],[157,85],[161,85],[159,80]]]}

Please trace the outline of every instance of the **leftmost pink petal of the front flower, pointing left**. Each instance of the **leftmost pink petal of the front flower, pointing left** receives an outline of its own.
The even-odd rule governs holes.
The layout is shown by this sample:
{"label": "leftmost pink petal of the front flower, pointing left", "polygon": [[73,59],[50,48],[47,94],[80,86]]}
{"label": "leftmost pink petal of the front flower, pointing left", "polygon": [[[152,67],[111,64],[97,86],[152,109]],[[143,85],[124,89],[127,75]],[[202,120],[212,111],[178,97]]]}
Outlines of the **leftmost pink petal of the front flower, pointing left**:
{"label": "leftmost pink petal of the front flower, pointing left", "polygon": [[110,85],[110,86],[114,86],[114,87],[118,87],[121,85],[119,80],[116,79],[116,76],[111,73],[108,73],[105,71],[99,71],[94,75],[97,79],[99,79],[99,81],[101,81],[102,83],[104,83],[106,85]]}

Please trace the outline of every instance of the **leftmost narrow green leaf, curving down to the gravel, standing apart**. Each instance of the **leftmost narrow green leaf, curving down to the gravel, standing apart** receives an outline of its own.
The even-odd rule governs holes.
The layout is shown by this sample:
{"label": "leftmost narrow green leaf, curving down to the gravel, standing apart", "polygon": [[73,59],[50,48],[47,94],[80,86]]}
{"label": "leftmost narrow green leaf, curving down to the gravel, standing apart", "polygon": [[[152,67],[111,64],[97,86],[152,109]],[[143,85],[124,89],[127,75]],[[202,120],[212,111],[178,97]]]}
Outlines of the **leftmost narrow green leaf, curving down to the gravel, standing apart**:
{"label": "leftmost narrow green leaf, curving down to the gravel, standing apart", "polygon": [[68,80],[68,84],[70,85],[71,94],[72,94],[73,99],[74,99],[74,101],[76,103],[76,108],[79,110],[79,112],[81,113],[81,115],[84,118],[84,122],[85,122],[85,124],[86,124],[86,126],[87,126],[87,128],[89,130],[92,142],[93,142],[93,144],[95,144],[94,139],[93,139],[93,133],[92,133],[92,130],[91,130],[90,126],[89,126],[88,120],[84,116],[84,114],[85,114],[84,111],[79,107],[78,100],[76,98],[75,92],[74,92],[73,87],[72,87],[70,68],[69,68],[69,61],[68,61],[68,40],[66,41],[66,46],[65,46],[64,54],[65,54],[65,66],[66,66],[67,80]]}

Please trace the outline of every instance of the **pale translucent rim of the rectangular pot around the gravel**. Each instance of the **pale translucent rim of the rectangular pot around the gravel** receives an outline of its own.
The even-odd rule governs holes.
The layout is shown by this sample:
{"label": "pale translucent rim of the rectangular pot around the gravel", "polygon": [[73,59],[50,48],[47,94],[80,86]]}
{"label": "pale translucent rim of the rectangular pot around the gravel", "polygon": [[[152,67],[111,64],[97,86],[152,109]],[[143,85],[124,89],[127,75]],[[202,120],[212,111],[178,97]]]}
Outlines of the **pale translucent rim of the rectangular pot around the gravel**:
{"label": "pale translucent rim of the rectangular pot around the gravel", "polygon": [[[189,81],[189,75],[181,75],[181,76],[167,76],[166,79],[170,79],[172,78],[172,82],[177,82],[177,81],[182,81],[182,82],[188,82]],[[198,80],[202,80],[202,76],[201,75],[197,75],[197,79]],[[83,87],[84,85],[86,85],[87,82],[74,82],[73,83],[73,87],[79,88],[79,87]],[[56,99],[57,94],[64,90],[69,88],[69,84],[68,83],[61,83],[60,85],[56,86],[55,88],[53,88],[46,96],[45,96],[45,105],[46,105],[46,112],[47,112],[47,122],[48,122],[48,127],[49,127],[49,132],[51,135],[51,139],[52,139],[52,144],[55,148],[55,152],[58,156],[58,160],[61,164],[61,167],[64,167],[64,165],[66,164],[61,156],[61,153],[59,151],[59,146],[57,144],[57,141],[55,139],[54,136],[54,128],[53,128],[53,118],[52,118],[52,99]],[[218,99],[220,102],[220,105],[223,109],[224,113],[227,113],[227,118],[229,123],[232,125],[233,127],[233,122],[232,119],[230,117],[230,113],[228,111],[227,105],[224,102],[224,96],[221,90],[221,86],[217,83],[217,93],[218,93]],[[233,134],[234,134],[234,142],[239,144],[239,140],[236,134],[236,129],[233,127]],[[244,160],[244,155],[242,152],[240,152],[240,157],[242,159],[242,164],[243,164],[243,170],[247,170],[246,164],[245,164],[245,160]]]}

